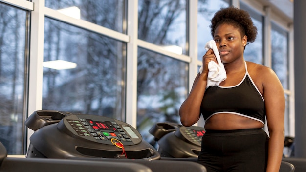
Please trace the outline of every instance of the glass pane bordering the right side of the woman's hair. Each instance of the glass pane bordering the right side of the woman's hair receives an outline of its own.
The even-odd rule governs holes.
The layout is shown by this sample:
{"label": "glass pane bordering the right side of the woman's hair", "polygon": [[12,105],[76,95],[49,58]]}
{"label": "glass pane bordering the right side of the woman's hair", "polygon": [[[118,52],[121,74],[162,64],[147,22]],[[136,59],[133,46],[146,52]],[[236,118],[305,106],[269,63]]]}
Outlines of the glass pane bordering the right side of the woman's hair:
{"label": "glass pane bordering the right side of the woman's hair", "polygon": [[263,64],[263,16],[243,3],[240,3],[240,8],[250,13],[253,23],[257,27],[256,40],[245,47],[244,59],[257,64]]}

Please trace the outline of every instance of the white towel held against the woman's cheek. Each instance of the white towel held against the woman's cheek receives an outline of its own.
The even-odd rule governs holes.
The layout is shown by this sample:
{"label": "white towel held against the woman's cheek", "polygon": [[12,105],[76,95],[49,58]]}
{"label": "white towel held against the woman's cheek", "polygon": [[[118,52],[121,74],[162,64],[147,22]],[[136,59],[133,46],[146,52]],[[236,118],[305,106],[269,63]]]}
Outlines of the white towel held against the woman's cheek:
{"label": "white towel held against the woman's cheek", "polygon": [[[214,54],[217,58],[217,62],[210,61],[208,63],[208,76],[207,76],[207,85],[209,86],[219,86],[219,84],[226,79],[226,71],[224,68],[223,63],[221,62],[220,54],[218,51],[218,48],[216,46],[216,42],[214,40],[210,40],[206,43],[205,49],[208,51],[209,49],[212,49],[214,51]],[[202,73],[203,66],[199,69],[199,72]]]}

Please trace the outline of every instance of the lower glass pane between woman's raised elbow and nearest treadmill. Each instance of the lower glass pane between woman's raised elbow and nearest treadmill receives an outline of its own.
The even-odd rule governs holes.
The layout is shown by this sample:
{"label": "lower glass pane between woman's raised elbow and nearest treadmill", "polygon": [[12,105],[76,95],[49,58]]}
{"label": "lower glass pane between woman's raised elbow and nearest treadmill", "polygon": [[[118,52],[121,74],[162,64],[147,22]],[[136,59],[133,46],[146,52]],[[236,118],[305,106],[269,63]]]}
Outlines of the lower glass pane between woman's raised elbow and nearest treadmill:
{"label": "lower glass pane between woman's raised elbow and nearest treadmill", "polygon": [[180,124],[178,110],[187,97],[188,63],[138,48],[137,130],[153,144],[157,122]]}

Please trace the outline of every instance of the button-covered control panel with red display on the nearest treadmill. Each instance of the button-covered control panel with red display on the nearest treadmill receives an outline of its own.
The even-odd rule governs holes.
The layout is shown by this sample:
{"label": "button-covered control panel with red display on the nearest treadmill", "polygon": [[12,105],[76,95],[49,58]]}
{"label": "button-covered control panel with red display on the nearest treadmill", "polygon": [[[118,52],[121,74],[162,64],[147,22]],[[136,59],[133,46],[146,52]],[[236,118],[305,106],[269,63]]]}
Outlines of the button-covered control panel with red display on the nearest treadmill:
{"label": "button-covered control panel with red display on the nearest treadmill", "polygon": [[107,145],[113,145],[114,141],[123,145],[136,145],[142,140],[140,133],[131,125],[103,116],[69,115],[58,123],[58,128],[74,137]]}

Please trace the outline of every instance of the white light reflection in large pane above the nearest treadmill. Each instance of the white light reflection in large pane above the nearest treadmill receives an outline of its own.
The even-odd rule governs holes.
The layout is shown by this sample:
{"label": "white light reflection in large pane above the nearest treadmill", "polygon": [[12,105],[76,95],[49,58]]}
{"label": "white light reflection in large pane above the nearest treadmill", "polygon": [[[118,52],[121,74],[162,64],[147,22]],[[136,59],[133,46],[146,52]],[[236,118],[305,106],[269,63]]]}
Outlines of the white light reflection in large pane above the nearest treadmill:
{"label": "white light reflection in large pane above the nearest treadmill", "polygon": [[64,60],[54,60],[43,62],[43,66],[55,70],[73,69],[77,67],[76,63],[67,62]]}

